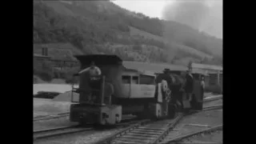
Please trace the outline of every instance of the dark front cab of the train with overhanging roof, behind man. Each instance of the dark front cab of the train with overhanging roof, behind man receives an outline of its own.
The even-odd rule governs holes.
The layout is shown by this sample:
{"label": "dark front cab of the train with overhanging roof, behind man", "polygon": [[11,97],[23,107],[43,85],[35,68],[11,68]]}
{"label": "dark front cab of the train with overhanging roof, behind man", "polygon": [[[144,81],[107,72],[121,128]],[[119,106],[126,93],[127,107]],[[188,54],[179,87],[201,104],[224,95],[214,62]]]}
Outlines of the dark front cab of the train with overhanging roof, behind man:
{"label": "dark front cab of the train with overhanging roof, behind man", "polygon": [[99,61],[100,58],[98,57],[106,58],[104,55],[77,56],[81,63],[81,69],[88,67],[90,62],[95,62],[102,70],[102,75],[95,80],[93,86],[90,85],[90,75],[88,73],[79,75],[79,87],[72,90],[72,93],[79,94],[79,98],[78,102],[70,106],[71,122],[79,122],[82,125],[87,123],[114,125],[122,119],[122,106],[112,104],[111,100],[114,93],[111,74],[114,73],[109,73],[110,70],[107,70],[111,67],[117,68],[119,59],[110,57],[107,58],[108,61]]}

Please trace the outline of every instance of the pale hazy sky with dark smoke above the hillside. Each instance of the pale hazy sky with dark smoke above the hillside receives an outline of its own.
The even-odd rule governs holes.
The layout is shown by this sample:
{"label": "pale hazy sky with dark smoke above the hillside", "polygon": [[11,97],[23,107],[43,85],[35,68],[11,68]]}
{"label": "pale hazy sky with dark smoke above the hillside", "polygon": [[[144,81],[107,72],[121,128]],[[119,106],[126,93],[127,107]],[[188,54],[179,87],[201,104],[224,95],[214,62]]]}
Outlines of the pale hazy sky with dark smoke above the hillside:
{"label": "pale hazy sky with dark smoke above the hillside", "polygon": [[115,0],[118,6],[160,18],[181,22],[222,38],[222,0]]}

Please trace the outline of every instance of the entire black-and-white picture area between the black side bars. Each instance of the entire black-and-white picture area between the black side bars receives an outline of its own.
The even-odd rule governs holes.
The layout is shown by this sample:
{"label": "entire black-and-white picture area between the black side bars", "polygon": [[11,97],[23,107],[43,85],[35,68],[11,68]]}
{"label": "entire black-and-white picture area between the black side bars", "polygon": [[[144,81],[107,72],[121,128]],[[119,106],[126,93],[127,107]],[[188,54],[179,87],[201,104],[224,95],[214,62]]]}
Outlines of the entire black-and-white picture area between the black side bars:
{"label": "entire black-and-white picture area between the black side bars", "polygon": [[34,144],[222,144],[222,11],[33,0]]}

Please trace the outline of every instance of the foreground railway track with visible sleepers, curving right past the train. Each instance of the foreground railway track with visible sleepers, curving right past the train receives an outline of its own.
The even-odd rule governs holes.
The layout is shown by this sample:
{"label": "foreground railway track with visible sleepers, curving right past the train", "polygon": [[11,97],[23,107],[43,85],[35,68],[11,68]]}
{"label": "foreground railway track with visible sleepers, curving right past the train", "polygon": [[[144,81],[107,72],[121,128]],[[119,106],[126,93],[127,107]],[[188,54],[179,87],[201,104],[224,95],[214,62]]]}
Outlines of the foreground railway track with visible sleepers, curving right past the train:
{"label": "foreground railway track with visible sleepers, curving right past the train", "polygon": [[[221,108],[222,106],[209,106],[201,111]],[[190,114],[197,112],[199,111],[193,111]],[[146,120],[144,122],[139,122],[134,126],[126,128],[126,130],[119,131],[108,138],[103,138],[98,142],[94,142],[94,144],[159,143],[162,142],[166,135],[173,130],[174,126],[186,115],[189,114],[178,114],[178,116],[172,120],[163,120],[158,122]]]}

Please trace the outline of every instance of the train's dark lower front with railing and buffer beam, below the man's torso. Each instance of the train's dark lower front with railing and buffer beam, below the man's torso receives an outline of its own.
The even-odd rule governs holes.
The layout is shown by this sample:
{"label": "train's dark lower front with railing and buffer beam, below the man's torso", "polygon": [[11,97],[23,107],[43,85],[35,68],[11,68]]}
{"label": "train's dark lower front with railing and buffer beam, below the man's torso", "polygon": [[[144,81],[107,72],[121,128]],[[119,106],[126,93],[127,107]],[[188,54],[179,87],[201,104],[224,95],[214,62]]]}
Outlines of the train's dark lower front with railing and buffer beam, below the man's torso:
{"label": "train's dark lower front with railing and buffer beam, below the man's torso", "polygon": [[90,90],[75,90],[82,101],[70,106],[70,121],[84,125],[96,123],[114,125],[122,119],[122,106],[112,105],[111,85],[105,81],[105,76],[98,82],[99,86]]}

